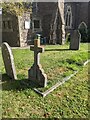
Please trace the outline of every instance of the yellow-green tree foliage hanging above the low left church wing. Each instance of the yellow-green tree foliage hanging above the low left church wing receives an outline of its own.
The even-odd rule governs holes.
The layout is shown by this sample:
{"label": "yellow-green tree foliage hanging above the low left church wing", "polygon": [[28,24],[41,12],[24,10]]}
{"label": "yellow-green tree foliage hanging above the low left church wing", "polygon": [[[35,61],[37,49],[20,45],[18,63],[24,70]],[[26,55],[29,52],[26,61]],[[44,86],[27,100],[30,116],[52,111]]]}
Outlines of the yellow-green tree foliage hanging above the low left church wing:
{"label": "yellow-green tree foliage hanging above the low left church wing", "polygon": [[3,13],[8,12],[16,16],[22,15],[24,12],[32,12],[31,2],[3,2],[1,3]]}

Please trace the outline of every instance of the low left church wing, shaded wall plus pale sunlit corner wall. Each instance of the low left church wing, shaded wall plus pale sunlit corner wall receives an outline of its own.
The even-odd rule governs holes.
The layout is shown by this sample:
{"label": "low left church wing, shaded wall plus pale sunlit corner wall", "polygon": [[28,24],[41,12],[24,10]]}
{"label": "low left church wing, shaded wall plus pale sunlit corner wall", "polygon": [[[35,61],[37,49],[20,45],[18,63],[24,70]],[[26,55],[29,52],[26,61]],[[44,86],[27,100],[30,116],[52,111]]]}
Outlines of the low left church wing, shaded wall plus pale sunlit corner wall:
{"label": "low left church wing, shaded wall plus pale sunlit corner wall", "polygon": [[30,13],[24,13],[22,16],[3,14],[2,42],[7,42],[12,47],[27,46],[31,31],[25,29],[25,21],[30,21]]}

